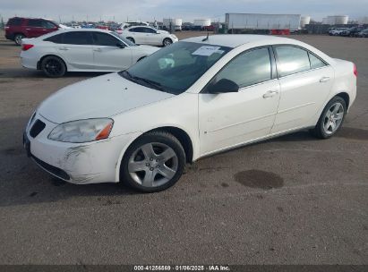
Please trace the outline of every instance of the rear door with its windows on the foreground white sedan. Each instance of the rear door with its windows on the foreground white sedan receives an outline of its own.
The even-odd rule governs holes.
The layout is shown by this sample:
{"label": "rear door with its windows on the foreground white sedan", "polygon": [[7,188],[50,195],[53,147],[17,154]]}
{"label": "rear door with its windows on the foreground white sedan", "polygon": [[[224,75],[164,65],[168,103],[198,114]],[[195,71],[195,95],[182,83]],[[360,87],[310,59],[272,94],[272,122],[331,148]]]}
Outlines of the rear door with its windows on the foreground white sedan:
{"label": "rear door with its windows on the foreground white sedan", "polygon": [[272,132],[308,126],[329,96],[335,72],[303,47],[275,46],[281,97]]}

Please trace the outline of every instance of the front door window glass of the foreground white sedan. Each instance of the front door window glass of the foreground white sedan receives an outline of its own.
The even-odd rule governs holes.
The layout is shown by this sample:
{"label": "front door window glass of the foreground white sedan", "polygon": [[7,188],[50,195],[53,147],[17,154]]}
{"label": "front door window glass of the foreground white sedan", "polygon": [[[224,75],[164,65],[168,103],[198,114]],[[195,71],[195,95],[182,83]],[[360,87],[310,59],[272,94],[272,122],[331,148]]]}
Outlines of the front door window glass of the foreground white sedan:
{"label": "front door window glass of the foreground white sedan", "polygon": [[269,49],[260,48],[236,56],[211,83],[227,79],[234,81],[239,88],[244,88],[263,81],[270,81],[271,78]]}

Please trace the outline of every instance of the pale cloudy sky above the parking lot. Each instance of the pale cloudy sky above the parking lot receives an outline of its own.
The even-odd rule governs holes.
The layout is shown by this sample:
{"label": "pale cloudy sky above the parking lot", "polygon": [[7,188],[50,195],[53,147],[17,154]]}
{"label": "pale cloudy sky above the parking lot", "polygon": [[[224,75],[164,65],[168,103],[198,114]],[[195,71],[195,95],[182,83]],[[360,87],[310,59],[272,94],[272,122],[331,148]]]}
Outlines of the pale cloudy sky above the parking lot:
{"label": "pale cloudy sky above the parking lot", "polygon": [[328,15],[368,16],[368,0],[0,0],[0,16],[44,17],[55,21],[224,21],[225,13],[310,15],[321,21]]}

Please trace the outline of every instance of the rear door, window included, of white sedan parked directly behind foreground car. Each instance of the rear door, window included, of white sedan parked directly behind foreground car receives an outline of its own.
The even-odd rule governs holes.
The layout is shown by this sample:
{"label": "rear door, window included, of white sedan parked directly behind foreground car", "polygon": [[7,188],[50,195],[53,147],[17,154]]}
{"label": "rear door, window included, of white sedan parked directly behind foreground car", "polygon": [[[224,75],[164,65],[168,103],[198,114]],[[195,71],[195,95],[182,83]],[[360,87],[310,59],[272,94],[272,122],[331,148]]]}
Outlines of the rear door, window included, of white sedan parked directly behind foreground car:
{"label": "rear door, window included, of white sedan parked directly behind foreground car", "polygon": [[68,63],[68,69],[92,70],[93,39],[90,31],[70,31],[63,34],[62,42],[56,44],[56,51]]}

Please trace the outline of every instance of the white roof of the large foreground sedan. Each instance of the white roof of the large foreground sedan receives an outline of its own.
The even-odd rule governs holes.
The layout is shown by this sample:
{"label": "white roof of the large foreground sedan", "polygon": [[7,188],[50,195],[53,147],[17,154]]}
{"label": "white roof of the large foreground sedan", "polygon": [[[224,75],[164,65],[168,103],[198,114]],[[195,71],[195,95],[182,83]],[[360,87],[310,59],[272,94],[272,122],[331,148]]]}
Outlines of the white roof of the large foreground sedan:
{"label": "white roof of the large foreground sedan", "polygon": [[249,43],[264,43],[264,44],[295,44],[297,41],[292,38],[281,38],[270,35],[251,35],[251,34],[223,34],[210,35],[208,40],[202,41],[207,36],[186,38],[183,41],[196,42],[203,44],[218,45],[221,47],[239,47]]}

